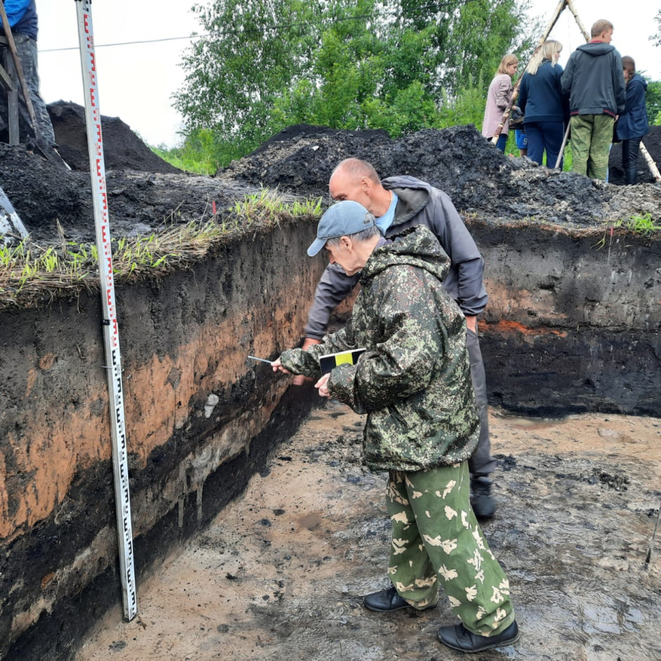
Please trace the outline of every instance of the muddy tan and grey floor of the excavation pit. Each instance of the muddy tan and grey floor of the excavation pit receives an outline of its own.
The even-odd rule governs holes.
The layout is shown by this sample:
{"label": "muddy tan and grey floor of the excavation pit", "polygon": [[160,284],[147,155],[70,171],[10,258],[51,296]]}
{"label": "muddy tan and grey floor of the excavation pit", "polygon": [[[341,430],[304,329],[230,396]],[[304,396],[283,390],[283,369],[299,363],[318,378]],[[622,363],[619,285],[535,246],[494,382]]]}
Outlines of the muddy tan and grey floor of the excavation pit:
{"label": "muddy tan and grey floor of the excavation pit", "polygon": [[[133,622],[81,659],[445,661],[448,601],[378,614],[387,585],[385,476],[360,463],[362,419],[334,403],[180,556],[140,585]],[[521,640],[477,660],[661,659],[661,419],[527,420],[494,411],[496,518],[484,525],[510,578]],[[115,620],[116,621],[116,620]]]}

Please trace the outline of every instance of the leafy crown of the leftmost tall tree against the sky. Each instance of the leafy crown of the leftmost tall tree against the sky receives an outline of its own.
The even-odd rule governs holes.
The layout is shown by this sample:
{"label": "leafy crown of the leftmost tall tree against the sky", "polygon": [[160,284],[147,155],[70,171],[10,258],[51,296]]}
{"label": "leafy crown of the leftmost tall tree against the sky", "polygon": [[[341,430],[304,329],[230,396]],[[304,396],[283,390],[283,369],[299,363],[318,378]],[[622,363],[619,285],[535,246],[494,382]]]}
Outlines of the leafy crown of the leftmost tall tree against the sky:
{"label": "leafy crown of the leftmost tall tree against the sky", "polygon": [[221,138],[252,145],[268,130],[275,99],[309,60],[314,35],[304,25],[311,6],[222,0],[193,10],[210,36],[185,55],[185,92],[175,95],[175,105],[189,132],[213,129]]}

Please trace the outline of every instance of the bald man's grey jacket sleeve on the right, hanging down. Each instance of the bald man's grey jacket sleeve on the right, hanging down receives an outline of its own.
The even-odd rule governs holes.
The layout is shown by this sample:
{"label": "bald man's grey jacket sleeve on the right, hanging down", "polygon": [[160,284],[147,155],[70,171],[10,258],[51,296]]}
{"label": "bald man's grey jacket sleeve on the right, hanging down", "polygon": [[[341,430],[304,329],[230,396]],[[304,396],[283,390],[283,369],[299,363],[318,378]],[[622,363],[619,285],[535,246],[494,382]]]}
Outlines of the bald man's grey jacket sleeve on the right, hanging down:
{"label": "bald man's grey jacket sleeve on the right, hanging down", "polygon": [[483,282],[482,255],[450,198],[439,191],[430,202],[435,207],[430,219],[431,229],[457,268],[457,282],[452,282],[449,275],[446,288],[465,315],[479,315],[489,300]]}

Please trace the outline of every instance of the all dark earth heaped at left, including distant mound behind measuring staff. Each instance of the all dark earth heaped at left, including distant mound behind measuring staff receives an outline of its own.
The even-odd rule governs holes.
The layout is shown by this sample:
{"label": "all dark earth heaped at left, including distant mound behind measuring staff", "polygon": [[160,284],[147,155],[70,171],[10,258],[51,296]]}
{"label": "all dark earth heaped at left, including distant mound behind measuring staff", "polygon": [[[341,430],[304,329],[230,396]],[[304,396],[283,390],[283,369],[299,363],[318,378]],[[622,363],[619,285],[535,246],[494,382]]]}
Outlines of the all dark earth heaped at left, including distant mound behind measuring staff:
{"label": "all dark earth heaped at left, including distant mound behind measuring staff", "polygon": [[[38,245],[67,240],[94,242],[85,111],[75,103],[48,105],[59,154],[57,167],[23,145],[0,143],[0,186]],[[145,235],[171,224],[209,220],[213,202],[229,207],[255,187],[192,176],[162,160],[116,117],[101,117],[111,235]]]}

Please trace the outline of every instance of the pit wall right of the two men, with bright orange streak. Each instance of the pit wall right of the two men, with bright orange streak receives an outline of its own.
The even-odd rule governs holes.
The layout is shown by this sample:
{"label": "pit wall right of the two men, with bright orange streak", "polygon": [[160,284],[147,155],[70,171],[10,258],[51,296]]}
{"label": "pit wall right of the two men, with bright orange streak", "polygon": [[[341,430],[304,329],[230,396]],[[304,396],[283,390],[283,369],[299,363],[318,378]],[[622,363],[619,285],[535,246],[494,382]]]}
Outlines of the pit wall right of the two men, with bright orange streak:
{"label": "pit wall right of the two men, with bright orange streak", "polygon": [[661,415],[661,236],[469,223],[485,259],[490,403]]}

